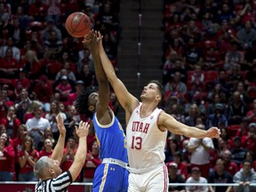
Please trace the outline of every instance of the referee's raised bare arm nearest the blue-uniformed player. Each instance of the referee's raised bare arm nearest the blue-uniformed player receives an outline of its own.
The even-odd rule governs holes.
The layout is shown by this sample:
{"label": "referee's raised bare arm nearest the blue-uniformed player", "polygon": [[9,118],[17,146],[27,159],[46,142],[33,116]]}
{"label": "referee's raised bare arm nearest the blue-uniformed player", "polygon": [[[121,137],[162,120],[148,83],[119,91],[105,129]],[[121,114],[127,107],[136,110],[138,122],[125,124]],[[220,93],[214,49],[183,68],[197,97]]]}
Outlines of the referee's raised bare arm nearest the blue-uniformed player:
{"label": "referee's raised bare arm nearest the blue-uniformed player", "polygon": [[76,156],[74,159],[73,164],[70,166],[68,171],[70,172],[72,176],[72,180],[76,180],[77,176],[80,174],[84,163],[85,163],[85,158],[87,154],[87,135],[89,132],[89,127],[90,125],[86,122],[80,122],[79,127],[76,127],[76,134],[79,137],[79,146],[76,150]]}

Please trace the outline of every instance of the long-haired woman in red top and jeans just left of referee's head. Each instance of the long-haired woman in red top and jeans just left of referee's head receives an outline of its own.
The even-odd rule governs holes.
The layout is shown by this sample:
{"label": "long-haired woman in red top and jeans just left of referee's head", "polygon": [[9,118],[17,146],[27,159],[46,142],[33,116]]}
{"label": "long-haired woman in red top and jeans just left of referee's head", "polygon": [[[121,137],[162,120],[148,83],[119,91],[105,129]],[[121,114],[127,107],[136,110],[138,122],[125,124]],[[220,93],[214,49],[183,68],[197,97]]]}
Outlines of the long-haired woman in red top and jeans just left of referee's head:
{"label": "long-haired woman in red top and jeans just left of referee's head", "polygon": [[36,181],[33,167],[39,158],[39,154],[34,148],[34,142],[31,137],[26,136],[24,138],[18,157],[20,164],[19,181]]}

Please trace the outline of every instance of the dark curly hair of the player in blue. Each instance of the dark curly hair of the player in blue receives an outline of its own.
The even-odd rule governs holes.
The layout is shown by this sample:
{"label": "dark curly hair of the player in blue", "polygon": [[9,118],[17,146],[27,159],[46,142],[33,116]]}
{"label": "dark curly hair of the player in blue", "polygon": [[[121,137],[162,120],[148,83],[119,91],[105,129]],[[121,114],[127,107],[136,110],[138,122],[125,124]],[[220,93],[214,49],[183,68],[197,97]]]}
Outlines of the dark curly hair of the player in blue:
{"label": "dark curly hair of the player in blue", "polygon": [[88,108],[88,97],[92,92],[96,92],[97,87],[89,86],[84,88],[84,90],[77,96],[75,101],[75,108],[79,115],[85,115],[87,117],[92,117],[92,111]]}

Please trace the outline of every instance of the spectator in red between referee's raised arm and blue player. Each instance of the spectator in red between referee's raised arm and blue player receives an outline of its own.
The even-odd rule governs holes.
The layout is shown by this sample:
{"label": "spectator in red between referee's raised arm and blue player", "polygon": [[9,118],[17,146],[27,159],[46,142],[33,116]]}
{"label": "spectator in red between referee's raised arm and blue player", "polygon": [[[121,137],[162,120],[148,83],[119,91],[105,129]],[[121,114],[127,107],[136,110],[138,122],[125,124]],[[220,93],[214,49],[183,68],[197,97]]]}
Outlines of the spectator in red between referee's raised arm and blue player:
{"label": "spectator in red between referee's raised arm and blue player", "polygon": [[[87,152],[86,161],[84,164],[84,179],[83,182],[92,182],[96,168],[101,164],[99,147],[97,141],[94,140],[92,148]],[[90,191],[90,187],[85,187],[85,191]]]}

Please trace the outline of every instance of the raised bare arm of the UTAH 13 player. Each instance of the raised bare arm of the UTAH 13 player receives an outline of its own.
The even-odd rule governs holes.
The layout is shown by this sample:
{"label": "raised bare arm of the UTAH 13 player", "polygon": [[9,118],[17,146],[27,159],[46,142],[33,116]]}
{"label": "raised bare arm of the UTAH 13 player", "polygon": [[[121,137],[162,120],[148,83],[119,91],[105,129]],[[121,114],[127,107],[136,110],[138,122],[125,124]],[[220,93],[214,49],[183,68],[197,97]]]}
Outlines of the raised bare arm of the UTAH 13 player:
{"label": "raised bare arm of the UTAH 13 player", "polygon": [[117,78],[116,72],[113,68],[112,63],[110,62],[110,60],[108,60],[108,56],[104,50],[102,42],[100,44],[100,60],[102,63],[102,67],[104,68],[104,71],[108,76],[108,81],[112,85],[116,93],[118,101],[124,108],[126,114],[128,114],[128,116],[126,116],[126,119],[129,119],[132,115],[133,109],[139,105],[139,100],[137,100],[130,92],[128,92],[123,82],[119,78]]}

